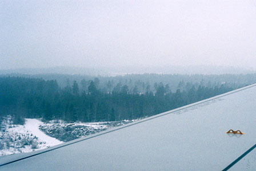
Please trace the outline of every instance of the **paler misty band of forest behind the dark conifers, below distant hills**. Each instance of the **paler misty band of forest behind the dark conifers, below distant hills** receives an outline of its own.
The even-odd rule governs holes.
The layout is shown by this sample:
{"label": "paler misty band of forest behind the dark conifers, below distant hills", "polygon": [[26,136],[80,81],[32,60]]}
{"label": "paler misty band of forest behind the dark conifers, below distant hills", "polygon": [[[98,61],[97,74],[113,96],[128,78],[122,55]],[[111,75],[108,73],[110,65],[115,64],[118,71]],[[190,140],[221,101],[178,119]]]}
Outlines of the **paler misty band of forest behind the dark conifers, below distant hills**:
{"label": "paler misty band of forest behind the dark conifers, below distant hills", "polygon": [[71,87],[74,81],[78,83],[79,91],[82,93],[88,92],[88,86],[91,80],[94,81],[97,89],[102,92],[112,92],[117,86],[121,84],[129,87],[130,93],[133,89],[139,93],[146,93],[152,91],[155,93],[155,83],[168,84],[171,91],[176,92],[177,89],[181,91],[189,91],[191,86],[197,89],[199,86],[215,88],[220,87],[222,84],[225,86],[237,89],[244,87],[248,84],[256,82],[256,74],[221,74],[221,75],[182,75],[182,74],[126,74],[117,76],[90,76],[90,75],[68,75],[68,74],[35,74],[35,75],[22,75],[22,74],[6,74],[3,76],[19,76],[25,78],[42,78],[43,80],[57,80],[58,86],[64,88]]}

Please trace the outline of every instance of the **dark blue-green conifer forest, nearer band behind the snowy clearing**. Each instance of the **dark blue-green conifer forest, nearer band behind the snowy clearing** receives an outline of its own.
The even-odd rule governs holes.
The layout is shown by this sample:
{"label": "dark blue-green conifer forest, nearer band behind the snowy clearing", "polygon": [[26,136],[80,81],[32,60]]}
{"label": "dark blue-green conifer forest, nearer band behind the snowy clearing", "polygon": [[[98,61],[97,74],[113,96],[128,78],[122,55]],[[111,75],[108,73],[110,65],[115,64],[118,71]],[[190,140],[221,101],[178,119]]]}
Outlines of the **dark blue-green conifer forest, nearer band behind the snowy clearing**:
{"label": "dark blue-green conifer forest, nearer band behind the snowy clearing", "polygon": [[[83,80],[82,80],[83,81]],[[24,118],[62,119],[69,122],[120,121],[153,116],[183,105],[207,99],[234,89],[236,84],[218,83],[201,86],[181,81],[173,92],[169,84],[145,84],[144,91],[136,85],[129,88],[121,82],[113,88],[99,87],[99,79],[76,80],[60,87],[57,80],[7,76],[0,78],[0,116],[13,116],[14,123]],[[202,81],[201,81],[202,84]],[[82,84],[83,85],[83,84]],[[85,90],[86,89],[86,90]]]}

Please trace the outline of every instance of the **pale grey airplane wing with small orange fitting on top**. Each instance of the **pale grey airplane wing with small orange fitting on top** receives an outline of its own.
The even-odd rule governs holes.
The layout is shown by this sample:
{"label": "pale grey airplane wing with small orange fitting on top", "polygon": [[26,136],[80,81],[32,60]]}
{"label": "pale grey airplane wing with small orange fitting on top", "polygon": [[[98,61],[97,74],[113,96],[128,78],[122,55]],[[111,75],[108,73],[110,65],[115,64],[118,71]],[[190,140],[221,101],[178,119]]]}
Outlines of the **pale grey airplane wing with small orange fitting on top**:
{"label": "pale grey airplane wing with small orange fitting on top", "polygon": [[[245,134],[226,133],[230,129]],[[256,170],[255,131],[253,84],[48,149],[1,157],[0,170]]]}

